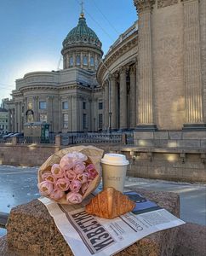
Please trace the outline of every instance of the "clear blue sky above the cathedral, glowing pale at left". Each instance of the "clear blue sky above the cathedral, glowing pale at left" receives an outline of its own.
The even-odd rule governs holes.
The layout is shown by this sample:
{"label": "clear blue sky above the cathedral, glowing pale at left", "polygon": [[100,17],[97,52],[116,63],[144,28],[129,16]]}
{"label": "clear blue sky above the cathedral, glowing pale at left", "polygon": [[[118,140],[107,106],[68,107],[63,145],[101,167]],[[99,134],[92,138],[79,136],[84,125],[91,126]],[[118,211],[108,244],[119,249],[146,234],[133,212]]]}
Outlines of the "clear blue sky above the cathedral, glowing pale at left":
{"label": "clear blue sky above the cathedral, glowing pale at left", "polygon": [[[60,50],[77,26],[80,0],[0,0],[0,103],[15,80],[33,71],[62,68]],[[84,0],[88,26],[106,54],[118,36],[137,20],[133,0]]]}

